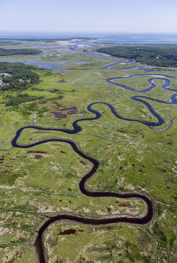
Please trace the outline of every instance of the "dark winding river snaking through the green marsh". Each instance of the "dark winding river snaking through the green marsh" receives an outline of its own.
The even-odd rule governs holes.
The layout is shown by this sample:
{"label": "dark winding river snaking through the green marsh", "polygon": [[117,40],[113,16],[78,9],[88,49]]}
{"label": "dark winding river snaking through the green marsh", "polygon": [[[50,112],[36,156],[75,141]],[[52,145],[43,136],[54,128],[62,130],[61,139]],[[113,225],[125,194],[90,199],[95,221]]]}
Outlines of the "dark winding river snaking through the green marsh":
{"label": "dark winding river snaking through the green marsh", "polygon": [[[70,49],[70,50],[71,51],[78,51],[75,48]],[[78,51],[78,52],[85,52],[85,51]],[[103,56],[103,57],[113,58],[110,56],[104,56],[104,55],[93,53],[93,52],[87,52],[87,53],[94,54],[95,56]],[[125,62],[125,63],[130,64],[130,63],[134,63],[134,62],[135,62],[134,60],[128,59],[128,62]],[[109,70],[110,67],[113,66],[113,64],[116,65],[116,64],[123,64],[123,63],[121,63],[121,62],[112,63],[112,64],[104,67],[103,69]],[[138,68],[142,68],[143,70],[147,70],[147,68],[145,68],[145,67],[138,67]],[[130,69],[130,68],[127,68],[127,69]],[[150,78],[148,80],[150,85],[141,91],[129,88],[128,86],[124,86],[122,84],[118,84],[115,82],[116,79],[131,78],[133,76],[140,76],[140,75],[129,75],[129,76],[121,77],[121,78],[111,78],[111,79],[107,79],[106,81],[110,84],[114,84],[116,86],[120,86],[120,87],[123,87],[124,89],[128,89],[130,91],[135,91],[138,93],[144,93],[144,92],[151,91],[155,86],[157,86],[153,82],[155,79],[157,79],[157,75],[150,75],[153,77],[153,78]],[[142,76],[146,76],[146,75],[142,75]],[[159,100],[155,100],[155,99],[148,98],[145,96],[131,97],[132,100],[143,103],[148,108],[148,110],[152,113],[152,115],[154,115],[154,117],[156,117],[157,122],[146,122],[146,121],[137,120],[137,119],[124,118],[121,115],[119,115],[118,113],[116,113],[114,107],[111,104],[105,103],[105,102],[93,102],[90,105],[88,105],[87,110],[89,112],[91,112],[94,115],[94,117],[80,118],[78,120],[75,120],[72,123],[73,129],[71,129],[71,130],[70,129],[57,129],[57,128],[43,128],[43,127],[37,127],[37,126],[26,126],[26,127],[21,127],[20,129],[18,129],[16,131],[16,135],[11,142],[13,147],[31,148],[31,147],[34,147],[36,145],[51,142],[51,141],[64,142],[64,143],[68,143],[72,147],[74,152],[77,153],[79,156],[81,156],[85,160],[91,162],[92,163],[91,170],[89,172],[87,172],[82,177],[82,179],[80,179],[80,182],[79,182],[79,189],[80,189],[81,193],[84,194],[85,196],[87,196],[89,198],[100,198],[100,197],[106,198],[106,197],[111,197],[111,196],[114,196],[117,198],[139,198],[145,203],[145,207],[146,207],[145,215],[142,215],[139,217],[128,217],[128,216],[116,216],[116,215],[114,215],[111,217],[104,217],[104,218],[92,218],[92,217],[86,217],[86,216],[81,217],[81,216],[71,214],[71,213],[60,213],[60,214],[53,216],[53,217],[47,216],[46,221],[42,224],[42,226],[38,230],[37,238],[35,240],[37,257],[38,257],[38,261],[40,263],[46,263],[48,261],[47,252],[44,248],[44,231],[47,229],[47,227],[49,225],[51,225],[57,221],[69,220],[72,222],[78,222],[78,223],[88,224],[88,225],[101,225],[101,224],[110,224],[110,223],[117,223],[117,222],[126,222],[126,223],[145,225],[145,224],[148,224],[150,222],[150,220],[152,219],[152,217],[154,215],[154,208],[153,208],[152,200],[147,195],[136,192],[136,191],[131,192],[131,193],[130,192],[129,193],[118,193],[118,192],[113,192],[113,191],[90,191],[90,190],[88,190],[86,187],[86,182],[92,176],[94,176],[97,173],[97,169],[100,167],[100,164],[99,164],[98,160],[96,160],[96,159],[88,156],[86,153],[82,152],[80,150],[78,144],[75,143],[74,141],[71,141],[68,139],[46,139],[46,140],[31,143],[31,144],[27,144],[27,145],[22,145],[22,144],[17,142],[18,138],[20,137],[21,132],[24,129],[37,129],[37,130],[62,131],[65,134],[77,134],[78,132],[80,132],[82,130],[82,128],[78,125],[78,122],[87,121],[87,120],[97,120],[102,116],[99,112],[92,109],[92,106],[94,104],[105,104],[105,105],[107,105],[109,107],[109,109],[111,110],[111,112],[114,114],[114,116],[116,116],[119,119],[126,120],[126,121],[136,121],[136,122],[139,122],[139,123],[146,125],[149,128],[160,126],[160,125],[164,124],[164,120],[153,110],[153,108],[147,102],[141,100],[141,98],[145,98],[145,99],[148,99],[150,101],[155,101],[155,102],[164,103],[164,104],[177,104],[177,102],[176,102],[177,91],[174,89],[170,89],[169,85],[171,82],[168,79],[165,79],[165,78],[176,78],[176,77],[170,77],[170,76],[166,76],[166,75],[158,75],[158,77],[160,77],[160,79],[164,81],[164,85],[162,86],[162,88],[164,90],[175,92],[175,94],[173,94],[171,96],[170,102],[159,101]]]}

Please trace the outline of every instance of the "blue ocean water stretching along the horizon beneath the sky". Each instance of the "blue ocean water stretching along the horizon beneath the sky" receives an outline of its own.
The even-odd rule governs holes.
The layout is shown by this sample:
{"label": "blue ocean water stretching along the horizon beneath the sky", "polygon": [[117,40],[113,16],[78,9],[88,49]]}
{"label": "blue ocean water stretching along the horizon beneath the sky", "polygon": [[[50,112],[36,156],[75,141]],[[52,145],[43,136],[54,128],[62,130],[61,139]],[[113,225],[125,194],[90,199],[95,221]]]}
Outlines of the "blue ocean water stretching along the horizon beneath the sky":
{"label": "blue ocean water stretching along the horizon beneath the sky", "polygon": [[91,33],[91,32],[0,32],[0,38],[71,38],[92,37],[96,42],[137,43],[137,44],[175,44],[177,33]]}

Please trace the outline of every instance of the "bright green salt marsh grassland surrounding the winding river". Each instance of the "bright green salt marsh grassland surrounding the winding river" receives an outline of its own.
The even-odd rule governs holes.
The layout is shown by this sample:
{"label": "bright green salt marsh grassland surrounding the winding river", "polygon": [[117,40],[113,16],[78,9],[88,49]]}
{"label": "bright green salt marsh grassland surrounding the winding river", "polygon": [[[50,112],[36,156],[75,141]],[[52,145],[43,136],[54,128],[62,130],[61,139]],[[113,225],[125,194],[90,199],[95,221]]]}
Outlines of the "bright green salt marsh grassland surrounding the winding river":
{"label": "bright green salt marsh grassland surrounding the winding river", "polygon": [[[16,131],[30,125],[72,129],[74,120],[93,117],[87,110],[93,102],[109,103],[125,118],[157,122],[144,104],[130,97],[143,95],[169,101],[174,92],[162,89],[164,82],[158,77],[155,80],[157,86],[145,94],[137,95],[135,91],[109,84],[105,81],[108,78],[136,72],[153,74],[139,69],[102,70],[110,63],[122,62],[120,59],[72,52],[63,43],[20,42],[22,44],[17,47],[35,47],[43,53],[2,57],[1,61],[65,63],[62,68],[51,71],[35,71],[40,82],[27,90],[0,90],[0,261],[25,263],[37,262],[34,241],[47,216],[74,213],[95,218],[114,215],[138,217],[146,212],[146,207],[140,199],[88,198],[80,192],[78,184],[91,169],[90,162],[77,155],[66,143],[49,142],[26,149],[12,148],[11,141]],[[39,47],[42,45],[45,47]],[[80,46],[80,50],[83,49]],[[128,66],[116,65],[114,68]],[[176,76],[176,79],[169,80],[170,88],[177,89],[177,72],[163,70],[156,72],[157,75]],[[152,76],[134,76],[115,82],[142,90],[149,86],[149,78]],[[57,83],[62,80],[65,83]],[[6,107],[6,98],[19,93],[44,96],[44,99]],[[20,144],[50,138],[77,142],[83,152],[96,158],[101,165],[97,174],[87,182],[88,189],[137,191],[148,195],[154,205],[154,217],[146,226],[123,223],[87,226],[64,221],[50,225],[44,233],[48,262],[177,261],[177,109],[175,104],[143,100],[163,118],[163,125],[150,129],[136,121],[118,119],[106,105],[95,104],[92,109],[101,113],[101,118],[80,121],[78,124],[82,131],[78,134],[36,129],[25,129],[21,133]],[[173,118],[171,127],[164,130]],[[74,229],[74,234],[59,234],[67,229]]]}

